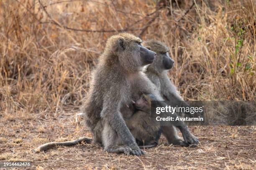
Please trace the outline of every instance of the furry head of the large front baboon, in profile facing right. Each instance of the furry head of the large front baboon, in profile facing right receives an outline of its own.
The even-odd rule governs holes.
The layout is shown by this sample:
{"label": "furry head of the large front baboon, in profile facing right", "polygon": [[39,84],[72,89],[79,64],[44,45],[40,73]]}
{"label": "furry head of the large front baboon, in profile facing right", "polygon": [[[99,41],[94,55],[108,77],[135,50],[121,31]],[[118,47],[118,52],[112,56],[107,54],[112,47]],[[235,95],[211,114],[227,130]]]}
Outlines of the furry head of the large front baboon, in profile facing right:
{"label": "furry head of the large front baboon, in profile facing right", "polygon": [[111,36],[100,57],[107,64],[117,64],[127,71],[138,71],[153,63],[156,53],[141,45],[141,39],[129,33]]}

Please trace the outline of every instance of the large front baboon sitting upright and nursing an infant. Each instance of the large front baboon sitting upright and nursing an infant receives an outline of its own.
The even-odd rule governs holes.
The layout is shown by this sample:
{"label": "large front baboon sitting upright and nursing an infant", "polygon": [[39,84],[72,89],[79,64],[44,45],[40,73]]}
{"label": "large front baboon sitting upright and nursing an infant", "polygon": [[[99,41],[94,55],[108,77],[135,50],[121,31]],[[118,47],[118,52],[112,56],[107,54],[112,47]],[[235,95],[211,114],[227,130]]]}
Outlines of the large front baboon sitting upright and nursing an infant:
{"label": "large front baboon sitting upright and nursing an infant", "polygon": [[123,117],[131,117],[132,100],[137,100],[139,95],[160,96],[142,72],[144,66],[154,61],[155,55],[141,46],[140,38],[128,33],[111,36],[106,43],[92,74],[82,112],[94,142],[102,144],[107,152],[143,154]]}

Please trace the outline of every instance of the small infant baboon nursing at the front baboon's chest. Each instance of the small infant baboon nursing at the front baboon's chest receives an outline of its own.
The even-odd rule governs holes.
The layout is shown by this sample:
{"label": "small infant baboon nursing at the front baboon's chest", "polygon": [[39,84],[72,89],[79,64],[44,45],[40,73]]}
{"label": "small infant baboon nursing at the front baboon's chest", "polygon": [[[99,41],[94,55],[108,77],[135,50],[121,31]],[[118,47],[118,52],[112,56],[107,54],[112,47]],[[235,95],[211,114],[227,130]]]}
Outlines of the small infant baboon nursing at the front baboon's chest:
{"label": "small infant baboon nursing at the front baboon's chest", "polygon": [[140,148],[155,147],[161,136],[159,122],[151,118],[151,100],[156,100],[153,94],[142,94],[135,102],[138,111],[130,119],[125,120]]}

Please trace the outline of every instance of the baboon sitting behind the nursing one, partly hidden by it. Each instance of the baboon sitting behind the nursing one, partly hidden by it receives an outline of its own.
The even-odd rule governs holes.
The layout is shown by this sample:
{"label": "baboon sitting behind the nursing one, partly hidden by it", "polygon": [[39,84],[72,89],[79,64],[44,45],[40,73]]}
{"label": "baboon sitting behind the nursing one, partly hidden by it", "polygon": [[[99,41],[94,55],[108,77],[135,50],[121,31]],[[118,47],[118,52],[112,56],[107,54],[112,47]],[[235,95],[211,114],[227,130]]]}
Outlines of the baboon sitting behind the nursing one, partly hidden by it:
{"label": "baboon sitting behind the nursing one, partly hidden by it", "polygon": [[[164,43],[155,40],[143,42],[143,46],[156,52],[156,59],[154,60],[154,63],[147,67],[146,75],[151,82],[156,85],[157,89],[164,97],[164,100],[171,101],[174,105],[182,104],[181,107],[188,107],[186,102],[179,102],[183,101],[183,99],[167,75],[167,71],[171,69],[174,64],[174,61],[169,57],[168,54],[169,48],[164,45]],[[195,140],[193,142],[188,142],[185,138],[185,141],[181,141],[174,126],[162,126],[162,132],[167,138],[168,142],[174,145],[197,145],[199,142],[196,137],[194,137]]]}

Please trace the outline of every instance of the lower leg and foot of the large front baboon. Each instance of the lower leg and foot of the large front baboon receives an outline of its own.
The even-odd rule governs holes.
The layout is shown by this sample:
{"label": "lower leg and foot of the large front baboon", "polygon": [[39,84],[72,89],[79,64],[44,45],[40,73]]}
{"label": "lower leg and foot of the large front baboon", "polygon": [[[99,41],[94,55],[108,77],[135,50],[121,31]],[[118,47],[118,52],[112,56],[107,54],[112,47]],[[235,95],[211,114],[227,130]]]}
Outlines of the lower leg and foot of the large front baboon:
{"label": "lower leg and foot of the large front baboon", "polygon": [[105,122],[103,127],[102,142],[104,145],[104,150],[110,153],[123,152],[126,155],[132,154],[137,156],[144,154],[143,151],[139,153],[137,150],[132,150],[127,145],[124,145],[118,137],[118,134],[113,130],[108,122]]}

